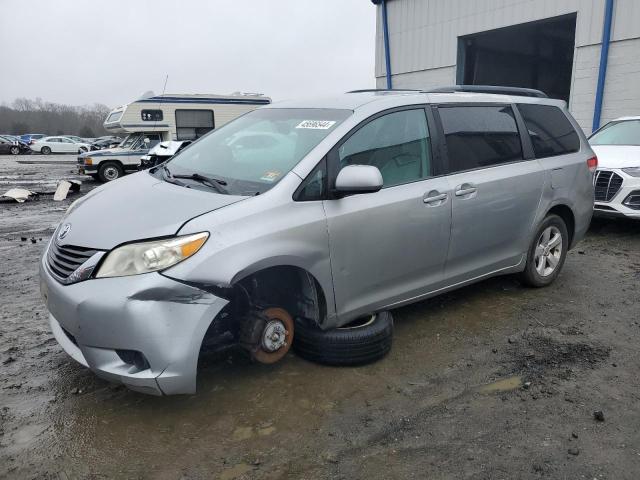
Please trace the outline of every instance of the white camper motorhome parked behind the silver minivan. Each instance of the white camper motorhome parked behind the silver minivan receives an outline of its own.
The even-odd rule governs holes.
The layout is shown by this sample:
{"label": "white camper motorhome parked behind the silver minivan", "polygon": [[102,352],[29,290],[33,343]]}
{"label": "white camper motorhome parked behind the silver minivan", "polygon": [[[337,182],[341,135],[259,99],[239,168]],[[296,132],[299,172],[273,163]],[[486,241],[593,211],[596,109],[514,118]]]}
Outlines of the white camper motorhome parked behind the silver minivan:
{"label": "white camper motorhome parked behind the silver minivan", "polygon": [[109,182],[134,172],[140,157],[159,142],[196,140],[271,99],[260,94],[157,95],[115,108],[104,121],[120,145],[78,156],[78,172]]}

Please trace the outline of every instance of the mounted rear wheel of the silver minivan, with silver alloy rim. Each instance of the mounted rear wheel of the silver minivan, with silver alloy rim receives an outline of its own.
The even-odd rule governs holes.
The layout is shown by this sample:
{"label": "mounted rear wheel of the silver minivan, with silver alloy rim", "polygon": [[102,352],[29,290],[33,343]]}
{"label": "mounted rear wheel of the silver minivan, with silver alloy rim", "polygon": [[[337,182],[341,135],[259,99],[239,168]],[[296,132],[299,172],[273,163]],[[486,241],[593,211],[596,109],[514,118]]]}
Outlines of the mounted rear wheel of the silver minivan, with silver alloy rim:
{"label": "mounted rear wheel of the silver minivan, with silver alloy rim", "polygon": [[564,220],[548,215],[533,237],[520,279],[531,287],[550,285],[560,274],[568,249],[569,233]]}

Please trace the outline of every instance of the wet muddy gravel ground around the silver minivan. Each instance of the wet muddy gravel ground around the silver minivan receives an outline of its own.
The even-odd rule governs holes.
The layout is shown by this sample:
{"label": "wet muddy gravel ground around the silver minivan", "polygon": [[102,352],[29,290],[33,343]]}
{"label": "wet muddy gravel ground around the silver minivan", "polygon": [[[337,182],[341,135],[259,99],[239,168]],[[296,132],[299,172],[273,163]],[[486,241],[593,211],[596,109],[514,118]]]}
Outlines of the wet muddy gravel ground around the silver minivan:
{"label": "wet muddy gravel ground around the silver minivan", "polygon": [[[2,157],[0,189],[72,169]],[[640,477],[640,222],[595,223],[549,288],[497,278],[394,311],[374,365],[232,354],[201,362],[197,395],[156,398],[49,332],[37,260],[70,201],[0,204],[0,478]]]}

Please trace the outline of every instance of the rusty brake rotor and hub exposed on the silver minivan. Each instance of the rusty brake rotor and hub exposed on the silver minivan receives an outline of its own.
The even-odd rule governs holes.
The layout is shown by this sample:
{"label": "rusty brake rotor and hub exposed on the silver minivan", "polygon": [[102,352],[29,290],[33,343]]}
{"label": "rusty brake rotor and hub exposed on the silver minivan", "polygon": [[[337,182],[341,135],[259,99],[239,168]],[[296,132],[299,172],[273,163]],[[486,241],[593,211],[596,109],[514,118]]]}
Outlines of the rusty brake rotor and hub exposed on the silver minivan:
{"label": "rusty brake rotor and hub exposed on the silver minivan", "polygon": [[257,348],[252,356],[260,363],[275,363],[284,357],[293,341],[293,318],[283,308],[272,307],[264,310],[266,317]]}

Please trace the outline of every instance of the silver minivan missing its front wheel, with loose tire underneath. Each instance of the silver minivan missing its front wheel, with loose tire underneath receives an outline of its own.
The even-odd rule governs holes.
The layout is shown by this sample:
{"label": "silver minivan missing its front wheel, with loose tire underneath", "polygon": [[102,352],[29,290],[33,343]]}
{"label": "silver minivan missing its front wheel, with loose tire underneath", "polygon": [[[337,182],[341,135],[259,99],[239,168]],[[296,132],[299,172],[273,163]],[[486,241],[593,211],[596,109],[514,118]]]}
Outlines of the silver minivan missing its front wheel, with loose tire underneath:
{"label": "silver minivan missing its front wheel, with loose tire underneath", "polygon": [[[229,146],[264,132],[282,148]],[[102,378],[153,394],[195,391],[200,352],[233,345],[264,363],[291,345],[370,362],[391,348],[389,309],[495,275],[551,284],[589,226],[596,162],[547,98],[260,108],[70,206],[40,265],[51,329]]]}

